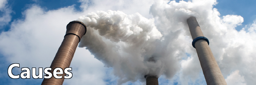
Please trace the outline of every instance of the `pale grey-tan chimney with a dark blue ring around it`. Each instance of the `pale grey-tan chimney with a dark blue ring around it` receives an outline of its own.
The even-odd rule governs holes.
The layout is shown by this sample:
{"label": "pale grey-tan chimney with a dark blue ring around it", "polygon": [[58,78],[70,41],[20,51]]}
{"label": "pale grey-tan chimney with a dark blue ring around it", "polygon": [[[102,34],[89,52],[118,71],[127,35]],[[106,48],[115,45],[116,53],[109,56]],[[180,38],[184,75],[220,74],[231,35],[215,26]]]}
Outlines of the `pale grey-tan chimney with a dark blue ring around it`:
{"label": "pale grey-tan chimney with a dark blue ring around it", "polygon": [[192,36],[192,46],[196,49],[207,85],[227,85],[218,64],[209,47],[209,40],[204,37],[195,17],[187,19]]}

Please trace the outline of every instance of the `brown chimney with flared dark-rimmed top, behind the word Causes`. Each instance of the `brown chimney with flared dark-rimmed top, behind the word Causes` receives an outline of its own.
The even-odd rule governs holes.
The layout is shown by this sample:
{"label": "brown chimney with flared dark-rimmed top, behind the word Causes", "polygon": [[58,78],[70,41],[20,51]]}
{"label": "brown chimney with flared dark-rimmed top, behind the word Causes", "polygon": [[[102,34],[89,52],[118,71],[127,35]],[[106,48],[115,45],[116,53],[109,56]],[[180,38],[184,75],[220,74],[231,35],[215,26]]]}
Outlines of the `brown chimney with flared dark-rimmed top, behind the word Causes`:
{"label": "brown chimney with flared dark-rimmed top, behind the word Causes", "polygon": [[[50,68],[52,71],[55,68],[62,68],[63,71],[65,68],[70,67],[70,63],[73,59],[73,56],[76,51],[76,47],[80,42],[80,39],[86,33],[86,26],[84,23],[79,21],[72,21],[67,24],[67,31],[64,36],[64,40],[61,43],[60,48],[58,49]],[[52,71],[49,71],[52,73]],[[62,79],[55,79],[52,77],[50,79],[44,79],[41,85],[62,85],[64,82],[64,75],[58,74],[58,76],[63,76]]]}

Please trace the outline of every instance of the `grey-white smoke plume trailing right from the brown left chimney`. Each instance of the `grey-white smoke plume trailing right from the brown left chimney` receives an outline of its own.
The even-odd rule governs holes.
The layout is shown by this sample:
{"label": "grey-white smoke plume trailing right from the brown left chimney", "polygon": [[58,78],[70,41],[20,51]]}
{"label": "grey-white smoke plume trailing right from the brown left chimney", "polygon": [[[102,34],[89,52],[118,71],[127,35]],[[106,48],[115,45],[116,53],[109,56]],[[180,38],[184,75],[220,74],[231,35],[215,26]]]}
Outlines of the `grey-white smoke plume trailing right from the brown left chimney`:
{"label": "grey-white smoke plume trailing right from the brown left chimney", "polygon": [[79,47],[86,47],[106,67],[112,67],[118,84],[143,82],[144,75],[170,78],[179,69],[177,56],[171,56],[176,53],[168,48],[169,39],[157,30],[154,19],[109,10],[92,12],[78,20],[87,26]]}

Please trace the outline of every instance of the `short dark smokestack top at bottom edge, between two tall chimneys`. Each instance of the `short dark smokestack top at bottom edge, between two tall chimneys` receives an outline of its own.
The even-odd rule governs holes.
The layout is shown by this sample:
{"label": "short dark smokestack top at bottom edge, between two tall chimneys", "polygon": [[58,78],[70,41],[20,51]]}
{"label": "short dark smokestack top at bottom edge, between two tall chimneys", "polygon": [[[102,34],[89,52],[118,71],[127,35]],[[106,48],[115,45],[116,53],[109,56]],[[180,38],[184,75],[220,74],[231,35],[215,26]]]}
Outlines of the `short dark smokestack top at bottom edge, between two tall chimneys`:
{"label": "short dark smokestack top at bottom edge, between two tall chimneys", "polygon": [[153,75],[145,75],[146,85],[158,85],[158,77]]}

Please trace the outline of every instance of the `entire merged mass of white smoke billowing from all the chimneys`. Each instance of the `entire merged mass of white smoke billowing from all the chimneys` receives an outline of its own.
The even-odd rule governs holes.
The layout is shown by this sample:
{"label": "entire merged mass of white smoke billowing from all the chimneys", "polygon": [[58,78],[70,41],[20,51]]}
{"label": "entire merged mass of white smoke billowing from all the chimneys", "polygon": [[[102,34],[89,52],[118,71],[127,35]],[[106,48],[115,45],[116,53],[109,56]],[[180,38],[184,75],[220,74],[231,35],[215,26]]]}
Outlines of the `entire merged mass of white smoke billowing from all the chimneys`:
{"label": "entire merged mass of white smoke billowing from all the chimneys", "polygon": [[[119,77],[118,84],[143,82],[146,74],[172,78],[179,73],[183,81],[179,83],[187,85],[189,80],[195,82],[201,72],[186,23],[188,17],[195,16],[224,77],[239,71],[247,83],[255,83],[255,23],[236,31],[243,18],[220,17],[213,8],[216,4],[216,0],[160,0],[150,8],[152,19],[122,11],[92,12],[78,19],[87,26],[79,47],[86,47],[106,67],[112,67]],[[149,62],[150,57],[155,62]]]}

